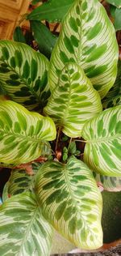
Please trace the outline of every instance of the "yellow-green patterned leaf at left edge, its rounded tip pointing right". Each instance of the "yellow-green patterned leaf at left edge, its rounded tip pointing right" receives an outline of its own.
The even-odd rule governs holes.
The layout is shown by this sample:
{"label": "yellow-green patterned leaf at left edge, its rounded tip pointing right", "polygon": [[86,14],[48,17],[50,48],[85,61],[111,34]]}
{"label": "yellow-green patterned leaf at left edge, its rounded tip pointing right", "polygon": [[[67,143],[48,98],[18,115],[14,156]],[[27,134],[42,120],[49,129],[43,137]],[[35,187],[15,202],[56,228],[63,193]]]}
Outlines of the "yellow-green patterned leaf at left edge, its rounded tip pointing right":
{"label": "yellow-green patterned leaf at left edge, its rounded tip pointing right", "polygon": [[10,100],[0,102],[0,162],[18,166],[35,160],[44,143],[53,139],[56,127],[51,118]]}

